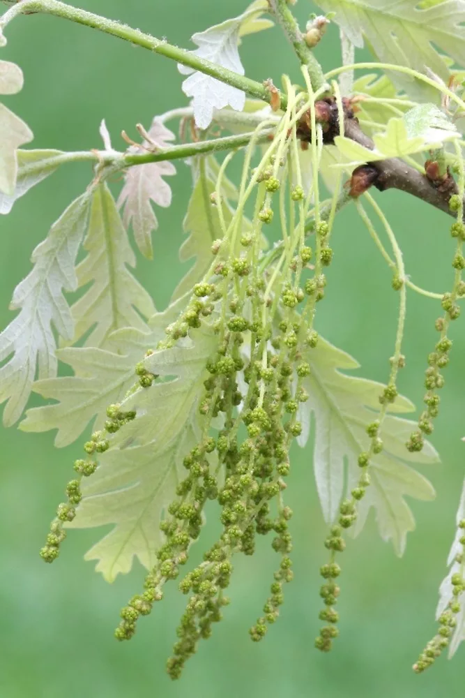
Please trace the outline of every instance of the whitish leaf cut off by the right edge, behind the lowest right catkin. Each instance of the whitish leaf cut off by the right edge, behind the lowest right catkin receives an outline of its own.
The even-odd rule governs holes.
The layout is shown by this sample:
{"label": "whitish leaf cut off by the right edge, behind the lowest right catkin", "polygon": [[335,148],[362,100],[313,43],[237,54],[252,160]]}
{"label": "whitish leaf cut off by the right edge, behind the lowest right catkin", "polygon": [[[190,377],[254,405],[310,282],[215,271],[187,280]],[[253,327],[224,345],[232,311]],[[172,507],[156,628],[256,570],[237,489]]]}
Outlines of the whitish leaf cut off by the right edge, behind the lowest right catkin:
{"label": "whitish leaf cut off by the right edge, behind the lowest right catkin", "polygon": [[459,528],[459,523],[463,519],[465,519],[465,480],[462,487],[462,496],[460,498],[459,508],[457,509],[457,515],[455,517],[455,525],[457,528],[455,539],[452,543],[448,556],[448,565],[450,565],[450,569],[439,587],[439,602],[436,609],[436,620],[438,620],[439,616],[441,616],[441,614],[448,607],[450,601],[457,600],[460,604],[460,610],[457,614],[455,614],[457,625],[455,626],[452,632],[452,637],[450,638],[449,658],[452,658],[453,655],[455,655],[457,649],[459,648],[459,644],[465,640],[465,592],[462,592],[458,598],[452,594],[452,576],[454,574],[459,574],[461,577],[463,576],[463,565],[456,560],[456,557],[461,555],[463,552],[463,546],[460,543],[460,538],[462,538],[462,536],[465,534],[464,529]]}

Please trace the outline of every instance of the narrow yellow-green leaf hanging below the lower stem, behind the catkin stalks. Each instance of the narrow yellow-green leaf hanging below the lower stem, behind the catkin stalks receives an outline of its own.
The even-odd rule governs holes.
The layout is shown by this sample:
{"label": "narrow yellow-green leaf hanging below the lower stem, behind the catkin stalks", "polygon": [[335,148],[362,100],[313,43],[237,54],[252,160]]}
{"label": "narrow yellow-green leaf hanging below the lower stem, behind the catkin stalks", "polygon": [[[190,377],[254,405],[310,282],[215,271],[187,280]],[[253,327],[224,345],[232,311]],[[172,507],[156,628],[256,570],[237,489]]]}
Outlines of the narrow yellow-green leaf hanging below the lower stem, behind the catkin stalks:
{"label": "narrow yellow-green leaf hanging below the lower stem, behind the catkin stalks", "polygon": [[[197,179],[183,223],[184,232],[188,233],[189,237],[179,250],[181,262],[187,262],[195,257],[195,263],[176,286],[173,300],[184,295],[195,283],[201,281],[213,260],[211,253],[213,240],[222,237],[218,209],[210,200],[213,191],[215,191],[215,184],[210,177],[200,176]],[[223,202],[222,211],[224,221],[228,225],[231,221],[231,211],[226,202]]]}

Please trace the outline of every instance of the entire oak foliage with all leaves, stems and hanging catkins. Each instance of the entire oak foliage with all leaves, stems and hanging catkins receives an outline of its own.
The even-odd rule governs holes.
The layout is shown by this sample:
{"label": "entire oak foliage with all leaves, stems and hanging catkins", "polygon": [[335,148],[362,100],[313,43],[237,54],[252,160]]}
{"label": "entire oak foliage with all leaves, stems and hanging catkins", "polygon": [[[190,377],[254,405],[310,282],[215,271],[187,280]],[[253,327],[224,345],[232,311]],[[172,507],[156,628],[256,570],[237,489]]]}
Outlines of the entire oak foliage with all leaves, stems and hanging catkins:
{"label": "entire oak foliage with all leaves, stems and hanging catkins", "polygon": [[[64,163],[94,164],[86,191],[57,211],[32,251],[31,271],[13,290],[12,319],[0,332],[3,423],[51,431],[56,447],[77,442],[75,476],[40,555],[52,562],[70,529],[95,528],[86,559],[96,560],[107,581],[128,573],[135,558],[142,563],[144,589],[121,611],[118,639],[132,637],[139,616],[176,579],[188,601],[167,664],[172,678],[222,618],[234,560],[252,555],[260,535],[269,535],[277,569],[252,640],[277,620],[293,577],[285,490],[293,484],[294,440],[314,470],[326,527],[323,625],[315,641],[322,651],[338,634],[335,580],[346,533],[362,533],[374,509],[381,538],[401,556],[415,527],[409,498],[434,498],[425,466],[439,467],[439,454],[429,436],[465,297],[465,1],[317,4],[322,14],[301,28],[294,1],[254,0],[232,18],[226,3],[223,22],[192,36],[193,50],[55,0],[21,0],[0,18],[0,47],[9,22],[43,10],[150,48],[176,61],[183,75],[178,105],[155,114],[148,131],[138,124],[140,142],[123,152],[112,147],[105,122],[98,151],[24,149],[31,130],[0,104],[0,214],[21,206],[45,177],[61,176]],[[312,50],[331,22],[341,30],[342,65],[323,73]],[[255,33],[273,27],[277,36],[275,25],[301,70],[300,84],[284,76],[279,89],[269,76],[245,77],[240,55]],[[373,60],[351,65],[364,46]],[[23,82],[20,67],[0,61],[6,103]],[[156,236],[170,234],[159,229],[157,207],[171,205],[179,159],[192,171],[179,250],[185,275],[160,310],[136,267],[139,255],[156,255]],[[233,160],[239,177],[231,174],[238,171]],[[455,250],[450,288],[440,295],[406,274],[372,187],[398,188],[444,211]],[[397,294],[383,384],[354,375],[356,359],[317,331],[337,266],[333,224],[347,206],[374,239]],[[416,416],[397,392],[413,292],[439,306]],[[414,363],[409,370],[418,370]],[[43,398],[40,406],[28,408],[31,392]],[[185,572],[191,544],[201,544],[208,500],[222,533]],[[101,526],[110,526],[103,537]],[[443,648],[452,655],[465,638],[464,529],[462,495],[439,630],[415,671]]]}

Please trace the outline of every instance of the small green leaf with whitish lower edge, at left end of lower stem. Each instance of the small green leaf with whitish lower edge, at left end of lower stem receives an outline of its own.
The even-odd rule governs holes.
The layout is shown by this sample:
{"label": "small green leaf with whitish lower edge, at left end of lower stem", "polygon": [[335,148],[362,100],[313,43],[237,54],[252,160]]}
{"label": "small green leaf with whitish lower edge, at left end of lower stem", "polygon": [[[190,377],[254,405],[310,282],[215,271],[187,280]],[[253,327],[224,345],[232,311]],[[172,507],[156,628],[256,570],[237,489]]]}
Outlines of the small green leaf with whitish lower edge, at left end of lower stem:
{"label": "small green leaf with whitish lower edge, at left end of lower stem", "polygon": [[60,164],[61,155],[60,150],[18,150],[15,191],[10,196],[0,192],[0,214],[9,214],[17,199],[53,174]]}

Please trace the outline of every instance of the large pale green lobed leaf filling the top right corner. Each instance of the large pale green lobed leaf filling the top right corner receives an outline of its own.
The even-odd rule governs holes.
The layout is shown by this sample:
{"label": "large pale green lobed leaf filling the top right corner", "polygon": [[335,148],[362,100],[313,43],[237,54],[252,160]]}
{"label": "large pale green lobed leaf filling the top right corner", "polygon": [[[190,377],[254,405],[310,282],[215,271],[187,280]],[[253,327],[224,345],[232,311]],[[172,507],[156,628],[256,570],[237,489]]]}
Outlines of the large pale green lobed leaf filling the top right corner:
{"label": "large pale green lobed leaf filling the top right corner", "polygon": [[[365,38],[382,63],[419,73],[429,68],[447,81],[448,68],[436,50],[439,47],[457,64],[465,65],[463,0],[446,0],[434,6],[429,2],[426,8],[413,0],[317,0],[317,4],[323,10],[335,11],[335,22],[357,47],[363,46]],[[428,91],[420,82],[415,89]]]}

